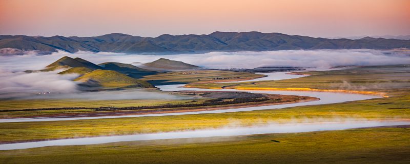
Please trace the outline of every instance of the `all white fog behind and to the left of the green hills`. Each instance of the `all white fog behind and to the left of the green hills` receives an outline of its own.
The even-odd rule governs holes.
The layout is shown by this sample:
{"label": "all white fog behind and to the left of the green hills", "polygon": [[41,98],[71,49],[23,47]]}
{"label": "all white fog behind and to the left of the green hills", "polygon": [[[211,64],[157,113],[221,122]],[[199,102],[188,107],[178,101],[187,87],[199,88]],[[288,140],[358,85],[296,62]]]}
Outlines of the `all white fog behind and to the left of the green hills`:
{"label": "all white fog behind and to the left of the green hills", "polygon": [[[4,98],[4,95],[9,95],[11,92],[77,93],[77,84],[76,82],[72,81],[72,79],[74,79],[78,75],[58,75],[56,74],[58,71],[39,72],[30,74],[22,72],[25,70],[43,69],[45,66],[53,63],[55,60],[63,56],[81,57],[95,64],[104,63],[107,61],[115,61],[119,63],[128,64],[136,62],[148,63],[160,57],[163,57],[183,61],[185,63],[201,66],[203,68],[255,68],[265,66],[293,66],[327,69],[330,67],[343,65],[372,66],[410,64],[410,57],[406,52],[378,51],[367,49],[209,52],[202,54],[174,55],[124,54],[109,52],[93,53],[84,51],[80,51],[73,54],[58,51],[49,55],[42,55],[37,54],[35,51],[33,51],[24,52],[24,55],[0,55],[0,92],[2,93],[1,96]],[[97,94],[92,95],[92,93],[83,95],[84,96],[74,97],[98,97]],[[129,94],[125,96],[132,95],[134,95],[134,97],[144,97],[136,96],[135,94]],[[167,95],[163,98],[170,97],[169,95]]]}

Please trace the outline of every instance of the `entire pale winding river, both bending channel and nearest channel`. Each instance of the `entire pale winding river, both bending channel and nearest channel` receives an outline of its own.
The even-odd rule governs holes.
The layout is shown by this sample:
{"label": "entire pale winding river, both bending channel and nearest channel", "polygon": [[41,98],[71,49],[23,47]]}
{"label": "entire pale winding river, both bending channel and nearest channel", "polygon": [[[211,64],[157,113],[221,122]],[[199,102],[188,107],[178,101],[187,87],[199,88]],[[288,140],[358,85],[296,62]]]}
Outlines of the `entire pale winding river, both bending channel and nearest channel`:
{"label": "entire pale winding river, both bending channel and nearest channel", "polygon": [[[267,73],[268,75],[267,77],[263,77],[257,80],[279,80],[279,79],[302,77],[302,75],[289,75],[285,73],[286,72]],[[278,76],[275,76],[275,75],[278,75],[278,76],[282,75],[282,76],[279,76],[278,78]],[[257,81],[257,80],[254,79],[252,81]],[[156,86],[156,87],[158,87],[162,91],[180,91],[180,90],[221,91],[221,90],[213,90],[213,89],[181,88],[182,86],[183,85],[166,85],[166,86]],[[120,115],[120,116],[93,116],[93,117],[86,116],[86,117],[16,118],[16,119],[0,119],[0,122],[63,121],[63,120],[79,120],[79,119],[103,119],[103,118],[205,114],[205,113],[226,113],[226,112],[264,110],[264,109],[280,109],[280,108],[305,106],[305,105],[342,103],[345,101],[364,100],[364,99],[381,97],[381,96],[374,96],[374,95],[362,95],[362,94],[352,94],[352,93],[308,92],[308,91],[266,91],[266,90],[264,91],[257,91],[257,90],[242,91],[242,90],[235,90],[235,89],[224,89],[223,91],[311,96],[311,97],[320,98],[320,100],[303,102],[303,103],[294,103],[294,104],[234,108],[234,109],[199,111],[199,112]],[[383,120],[383,121],[358,120],[358,121],[313,122],[313,123],[295,123],[295,124],[270,124],[267,126],[259,126],[259,127],[227,127],[227,128],[204,129],[204,130],[195,130],[195,131],[176,131],[176,132],[163,132],[163,133],[152,133],[152,134],[100,136],[100,137],[22,142],[22,143],[16,143],[16,144],[0,145],[0,150],[27,149],[27,148],[46,147],[46,146],[104,144],[104,143],[119,142],[119,141],[238,136],[238,135],[252,135],[252,134],[265,134],[265,133],[297,133],[297,132],[311,132],[311,131],[323,131],[323,130],[343,130],[343,129],[350,129],[350,128],[378,127],[378,126],[398,126],[398,125],[409,125],[409,124],[410,124],[410,120]]]}

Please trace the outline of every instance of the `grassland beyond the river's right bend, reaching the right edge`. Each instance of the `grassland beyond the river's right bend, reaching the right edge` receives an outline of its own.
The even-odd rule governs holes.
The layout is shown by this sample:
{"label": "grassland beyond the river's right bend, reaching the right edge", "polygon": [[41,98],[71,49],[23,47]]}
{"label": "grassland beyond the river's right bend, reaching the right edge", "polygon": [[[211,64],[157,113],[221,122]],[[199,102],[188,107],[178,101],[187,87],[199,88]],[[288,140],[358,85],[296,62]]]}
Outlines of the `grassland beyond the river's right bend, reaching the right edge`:
{"label": "grassland beyond the river's right bend, reaching the right edge", "polygon": [[259,81],[257,83],[208,83],[188,84],[191,88],[254,88],[254,89],[294,89],[312,88],[323,90],[353,90],[383,92],[389,95],[403,95],[403,88],[410,89],[410,67],[373,66],[347,70],[301,72],[309,74],[301,78]]}

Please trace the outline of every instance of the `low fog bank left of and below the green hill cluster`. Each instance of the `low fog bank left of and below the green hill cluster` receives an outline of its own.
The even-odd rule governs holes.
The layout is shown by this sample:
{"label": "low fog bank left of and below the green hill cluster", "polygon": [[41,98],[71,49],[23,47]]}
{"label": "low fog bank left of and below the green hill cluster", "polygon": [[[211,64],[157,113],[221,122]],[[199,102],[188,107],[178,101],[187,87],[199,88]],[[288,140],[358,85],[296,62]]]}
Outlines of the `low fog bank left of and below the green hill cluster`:
{"label": "low fog bank left of and below the green hill cluster", "polygon": [[[73,81],[77,74],[57,74],[52,72],[7,72],[0,70],[0,98],[18,99],[183,99],[178,95],[144,91],[140,89],[126,91],[83,92]],[[39,94],[50,92],[47,94]]]}

